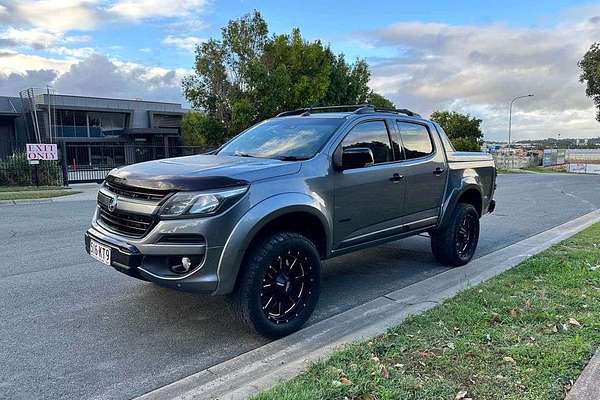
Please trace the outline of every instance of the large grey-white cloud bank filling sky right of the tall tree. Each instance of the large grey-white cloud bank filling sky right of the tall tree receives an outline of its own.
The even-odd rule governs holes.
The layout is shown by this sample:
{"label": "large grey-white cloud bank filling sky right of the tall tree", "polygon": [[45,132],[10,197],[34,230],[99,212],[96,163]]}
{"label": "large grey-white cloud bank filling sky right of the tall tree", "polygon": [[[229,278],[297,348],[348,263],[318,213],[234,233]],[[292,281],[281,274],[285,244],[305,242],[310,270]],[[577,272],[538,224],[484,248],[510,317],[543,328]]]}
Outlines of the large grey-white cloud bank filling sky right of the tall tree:
{"label": "large grey-white cloud bank filling sky right of the tall tree", "polygon": [[508,103],[531,92],[534,98],[515,103],[517,138],[598,136],[578,81],[577,61],[600,37],[600,18],[589,16],[547,29],[404,22],[357,38],[392,49],[369,59],[371,86],[398,106],[471,112],[484,120],[486,135],[503,138]]}

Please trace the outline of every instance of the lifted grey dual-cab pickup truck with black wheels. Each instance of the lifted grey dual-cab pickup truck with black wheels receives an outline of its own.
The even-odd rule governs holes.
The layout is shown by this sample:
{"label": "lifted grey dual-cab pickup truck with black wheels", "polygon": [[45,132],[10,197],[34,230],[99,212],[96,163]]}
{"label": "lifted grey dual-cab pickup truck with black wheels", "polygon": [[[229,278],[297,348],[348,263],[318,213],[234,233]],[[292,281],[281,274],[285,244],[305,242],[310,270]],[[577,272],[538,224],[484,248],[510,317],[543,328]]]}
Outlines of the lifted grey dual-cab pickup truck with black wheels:
{"label": "lifted grey dual-cab pickup truck with black wheels", "polygon": [[429,233],[439,262],[469,262],[495,181],[490,155],[409,110],[300,109],[210,154],[112,170],[85,246],[135,278],[228,295],[276,338],[315,309],[322,260]]}

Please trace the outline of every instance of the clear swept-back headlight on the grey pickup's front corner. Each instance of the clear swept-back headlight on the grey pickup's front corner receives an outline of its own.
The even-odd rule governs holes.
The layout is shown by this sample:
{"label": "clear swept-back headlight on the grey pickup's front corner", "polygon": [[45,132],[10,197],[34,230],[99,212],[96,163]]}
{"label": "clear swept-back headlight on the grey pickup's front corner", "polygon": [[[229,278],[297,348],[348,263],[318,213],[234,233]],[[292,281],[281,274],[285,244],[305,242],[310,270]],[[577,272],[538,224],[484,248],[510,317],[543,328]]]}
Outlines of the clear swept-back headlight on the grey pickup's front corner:
{"label": "clear swept-back headlight on the grey pickup's front corner", "polygon": [[179,192],[161,207],[161,217],[206,216],[216,214],[233,205],[246,193],[248,186],[203,192]]}

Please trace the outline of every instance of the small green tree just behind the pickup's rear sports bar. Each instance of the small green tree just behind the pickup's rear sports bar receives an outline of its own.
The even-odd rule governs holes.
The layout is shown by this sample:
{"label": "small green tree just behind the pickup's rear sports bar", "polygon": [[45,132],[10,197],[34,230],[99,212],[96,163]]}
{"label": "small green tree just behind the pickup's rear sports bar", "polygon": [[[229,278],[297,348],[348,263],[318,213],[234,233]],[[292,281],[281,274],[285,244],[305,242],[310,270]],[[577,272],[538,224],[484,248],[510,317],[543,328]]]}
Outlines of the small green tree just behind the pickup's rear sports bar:
{"label": "small green tree just behind the pickup's rear sports bar", "polygon": [[483,142],[481,120],[456,111],[435,111],[430,116],[440,124],[456,148],[462,151],[479,151]]}

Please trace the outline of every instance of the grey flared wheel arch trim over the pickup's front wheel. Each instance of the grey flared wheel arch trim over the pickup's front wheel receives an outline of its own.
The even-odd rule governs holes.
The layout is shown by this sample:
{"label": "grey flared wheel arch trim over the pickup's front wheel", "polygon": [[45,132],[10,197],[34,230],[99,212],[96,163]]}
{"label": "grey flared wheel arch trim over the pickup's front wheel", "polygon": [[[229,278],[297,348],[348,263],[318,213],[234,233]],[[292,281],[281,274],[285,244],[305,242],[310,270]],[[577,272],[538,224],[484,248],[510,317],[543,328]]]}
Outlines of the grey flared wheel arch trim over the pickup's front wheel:
{"label": "grey flared wheel arch trim over the pickup's front wheel", "polygon": [[326,254],[332,246],[331,219],[325,203],[303,193],[282,193],[269,197],[252,207],[240,218],[225,242],[217,267],[217,289],[213,294],[231,293],[244,255],[260,230],[274,219],[293,212],[308,212],[321,221],[325,230]]}

